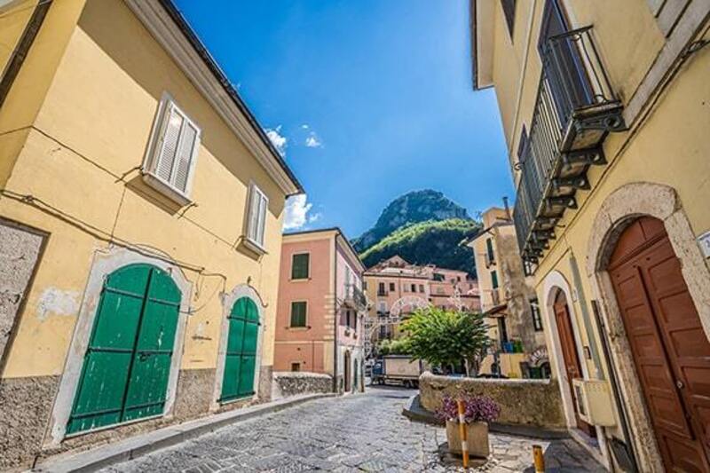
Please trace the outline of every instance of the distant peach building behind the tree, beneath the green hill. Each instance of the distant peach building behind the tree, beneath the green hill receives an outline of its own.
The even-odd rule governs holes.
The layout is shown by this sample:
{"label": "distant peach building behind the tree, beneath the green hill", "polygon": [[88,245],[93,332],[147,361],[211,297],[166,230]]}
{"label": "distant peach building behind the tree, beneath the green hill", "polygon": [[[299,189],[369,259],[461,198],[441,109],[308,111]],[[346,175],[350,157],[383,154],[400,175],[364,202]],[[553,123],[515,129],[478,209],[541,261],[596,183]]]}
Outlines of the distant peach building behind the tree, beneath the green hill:
{"label": "distant peach building behind the tree, beneath the green hill", "polygon": [[386,322],[393,313],[406,317],[429,304],[453,309],[457,288],[463,306],[469,311],[481,308],[477,280],[467,272],[410,264],[401,256],[375,264],[365,272],[364,280],[371,301],[369,322],[375,327],[373,343],[398,336],[398,324]]}

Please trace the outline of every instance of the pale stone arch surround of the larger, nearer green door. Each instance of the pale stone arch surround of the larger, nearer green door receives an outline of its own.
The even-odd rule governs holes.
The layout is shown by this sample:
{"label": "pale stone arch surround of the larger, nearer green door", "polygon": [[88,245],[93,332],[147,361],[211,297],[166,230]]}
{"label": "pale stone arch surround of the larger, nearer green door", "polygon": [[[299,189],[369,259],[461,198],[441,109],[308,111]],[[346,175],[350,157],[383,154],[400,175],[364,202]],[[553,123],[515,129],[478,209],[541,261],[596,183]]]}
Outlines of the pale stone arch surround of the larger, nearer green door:
{"label": "pale stone arch surround of the larger, nearer green door", "polygon": [[177,376],[185,343],[185,325],[190,312],[193,283],[187,280],[185,273],[175,264],[170,264],[162,258],[146,256],[128,248],[112,247],[99,250],[94,256],[91,271],[84,289],[82,305],[76,319],[74,334],[69,345],[67,361],[59,382],[57,397],[52,406],[50,436],[45,446],[57,446],[67,435],[67,422],[74,404],[76,389],[83,368],[83,357],[91,338],[91,329],[97,314],[97,306],[106,276],[130,264],[150,264],[170,274],[177,288],[182,293],[180,311],[177,319],[174,356],[170,359],[170,377],[166,394],[163,416],[173,414],[177,395]]}

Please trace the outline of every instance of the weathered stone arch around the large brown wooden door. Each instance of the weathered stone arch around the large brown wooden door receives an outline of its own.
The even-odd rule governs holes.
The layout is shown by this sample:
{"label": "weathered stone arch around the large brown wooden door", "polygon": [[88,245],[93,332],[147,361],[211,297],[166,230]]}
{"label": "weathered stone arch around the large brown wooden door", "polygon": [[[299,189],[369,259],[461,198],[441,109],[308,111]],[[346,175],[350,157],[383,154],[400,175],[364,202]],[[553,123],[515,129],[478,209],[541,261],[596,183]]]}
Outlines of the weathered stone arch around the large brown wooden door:
{"label": "weathered stone arch around the large brown wooden door", "polygon": [[619,414],[626,415],[628,423],[634,426],[630,441],[634,444],[639,468],[643,471],[663,471],[651,417],[639,389],[641,384],[635,372],[635,362],[611,277],[606,271],[621,233],[642,216],[655,217],[663,222],[708,337],[710,272],[674,188],[656,183],[631,183],[622,185],[604,200],[589,236],[587,273],[596,298],[601,303],[606,326],[606,333],[602,335],[609,342],[611,363],[619,378],[622,405],[625,406],[625,412]]}

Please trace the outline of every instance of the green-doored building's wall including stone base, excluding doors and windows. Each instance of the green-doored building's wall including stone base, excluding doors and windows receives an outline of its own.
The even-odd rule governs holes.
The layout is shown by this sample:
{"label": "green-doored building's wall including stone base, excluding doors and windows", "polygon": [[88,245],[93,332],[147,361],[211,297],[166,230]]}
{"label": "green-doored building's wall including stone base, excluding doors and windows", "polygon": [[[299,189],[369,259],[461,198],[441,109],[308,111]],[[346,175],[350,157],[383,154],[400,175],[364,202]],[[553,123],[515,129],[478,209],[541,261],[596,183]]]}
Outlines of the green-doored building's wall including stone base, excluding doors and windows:
{"label": "green-doored building's wall including stone base, excluding doors and windows", "polygon": [[[0,110],[0,216],[49,235],[0,379],[0,419],[9,421],[0,422],[0,469],[27,466],[40,449],[95,445],[208,414],[222,296],[240,285],[256,291],[263,309],[257,362],[264,375],[258,398],[244,402],[271,392],[285,195],[126,4],[83,7],[51,4]],[[140,175],[163,92],[202,130],[193,205],[184,208]],[[241,244],[251,182],[269,198],[264,255]],[[185,280],[184,331],[173,355],[179,366],[171,372],[177,396],[161,419],[61,441],[51,435],[52,413],[73,402],[74,391],[58,397],[58,390],[69,377],[73,341],[91,329],[77,324],[83,304],[99,296],[89,290],[91,269],[116,251],[160,259]]]}

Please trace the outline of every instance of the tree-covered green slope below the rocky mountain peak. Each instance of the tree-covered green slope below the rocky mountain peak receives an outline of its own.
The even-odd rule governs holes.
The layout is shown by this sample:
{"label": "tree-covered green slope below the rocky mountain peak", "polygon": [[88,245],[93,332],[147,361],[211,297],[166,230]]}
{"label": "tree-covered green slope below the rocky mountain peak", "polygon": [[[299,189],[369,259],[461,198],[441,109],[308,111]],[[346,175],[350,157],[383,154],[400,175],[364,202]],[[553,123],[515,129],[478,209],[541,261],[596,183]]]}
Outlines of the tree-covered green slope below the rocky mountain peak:
{"label": "tree-covered green slope below the rocky mountain peak", "polygon": [[360,258],[370,267],[399,255],[412,264],[436,264],[474,275],[473,249],[463,244],[463,240],[475,236],[480,229],[476,221],[463,218],[404,225],[368,248]]}

